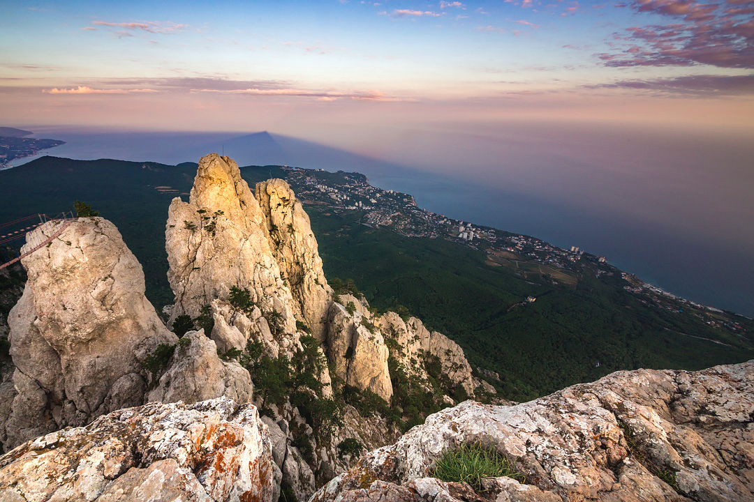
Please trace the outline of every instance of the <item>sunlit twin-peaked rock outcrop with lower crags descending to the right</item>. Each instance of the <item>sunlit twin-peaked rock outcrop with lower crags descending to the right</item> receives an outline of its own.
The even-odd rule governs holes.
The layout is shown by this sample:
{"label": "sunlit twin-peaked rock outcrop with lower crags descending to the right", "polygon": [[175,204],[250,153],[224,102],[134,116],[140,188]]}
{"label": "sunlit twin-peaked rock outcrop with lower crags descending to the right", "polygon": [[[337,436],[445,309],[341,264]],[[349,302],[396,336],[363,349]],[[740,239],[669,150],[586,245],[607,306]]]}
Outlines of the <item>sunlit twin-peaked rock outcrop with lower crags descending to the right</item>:
{"label": "sunlit twin-peaked rock outcrop with lower crags descending to the right", "polygon": [[[471,369],[455,342],[415,318],[406,323],[393,314],[381,322],[351,295],[333,301],[309,218],[283,180],[262,181],[252,192],[233,160],[203,157],[189,202],[170,204],[166,249],[176,295],[171,320],[211,316],[207,335],[221,353],[259,342],[268,357],[296,357],[300,337],[311,333],[336,376],[389,402],[385,327],[405,338],[406,357],[425,382],[431,360],[455,396],[474,395]],[[231,291],[244,290],[249,300],[240,307]],[[322,382],[329,382],[324,373]]]}

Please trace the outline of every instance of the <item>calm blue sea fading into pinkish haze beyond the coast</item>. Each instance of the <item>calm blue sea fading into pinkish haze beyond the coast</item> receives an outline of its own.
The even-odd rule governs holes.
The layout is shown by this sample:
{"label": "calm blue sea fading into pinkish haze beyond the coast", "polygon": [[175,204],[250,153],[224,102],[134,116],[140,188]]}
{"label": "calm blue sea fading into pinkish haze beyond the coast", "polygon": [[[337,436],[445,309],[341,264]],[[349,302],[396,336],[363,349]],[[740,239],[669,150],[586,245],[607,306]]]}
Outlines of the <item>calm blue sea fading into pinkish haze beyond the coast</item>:
{"label": "calm blue sea fading into pinkish haze beyond the coast", "polygon": [[380,157],[268,132],[31,130],[66,141],[35,157],[176,164],[217,151],[241,166],[362,172],[446,217],[578,246],[672,294],[754,317],[754,141],[623,126],[473,129],[396,135]]}

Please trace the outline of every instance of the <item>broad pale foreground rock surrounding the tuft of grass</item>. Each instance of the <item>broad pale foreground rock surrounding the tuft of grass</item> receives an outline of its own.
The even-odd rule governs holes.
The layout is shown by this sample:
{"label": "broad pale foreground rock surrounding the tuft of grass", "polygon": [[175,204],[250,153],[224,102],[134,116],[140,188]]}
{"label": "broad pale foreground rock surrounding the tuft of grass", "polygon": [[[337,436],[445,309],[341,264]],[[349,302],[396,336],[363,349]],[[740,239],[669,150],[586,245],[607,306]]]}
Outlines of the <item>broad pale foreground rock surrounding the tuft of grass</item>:
{"label": "broad pale foreground rock surrounding the tuft of grass", "polygon": [[432,485],[421,478],[464,443],[506,455],[534,485],[492,480],[489,500],[752,500],[752,410],[754,361],[618,372],[516,406],[466,401],[361,458],[312,500],[402,500],[386,482],[438,500],[443,490],[417,486]]}

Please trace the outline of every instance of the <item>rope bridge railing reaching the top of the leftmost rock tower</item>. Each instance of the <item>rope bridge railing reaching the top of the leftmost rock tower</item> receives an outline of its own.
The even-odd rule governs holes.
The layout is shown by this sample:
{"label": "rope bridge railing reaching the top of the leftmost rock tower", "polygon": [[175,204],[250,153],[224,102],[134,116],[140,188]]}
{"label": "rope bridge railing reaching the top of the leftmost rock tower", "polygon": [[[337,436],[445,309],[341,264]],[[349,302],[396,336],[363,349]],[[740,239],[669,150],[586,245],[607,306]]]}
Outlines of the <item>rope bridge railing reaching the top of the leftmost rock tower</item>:
{"label": "rope bridge railing reaching the top of the leftmost rock tower", "polygon": [[[47,214],[32,214],[25,218],[0,224],[0,270],[50,244],[75,219],[72,212],[60,213],[54,217]],[[41,232],[34,232],[48,221],[60,221],[62,225],[58,225],[54,233],[49,236],[45,236]],[[24,246],[26,246],[26,249],[22,251]]]}

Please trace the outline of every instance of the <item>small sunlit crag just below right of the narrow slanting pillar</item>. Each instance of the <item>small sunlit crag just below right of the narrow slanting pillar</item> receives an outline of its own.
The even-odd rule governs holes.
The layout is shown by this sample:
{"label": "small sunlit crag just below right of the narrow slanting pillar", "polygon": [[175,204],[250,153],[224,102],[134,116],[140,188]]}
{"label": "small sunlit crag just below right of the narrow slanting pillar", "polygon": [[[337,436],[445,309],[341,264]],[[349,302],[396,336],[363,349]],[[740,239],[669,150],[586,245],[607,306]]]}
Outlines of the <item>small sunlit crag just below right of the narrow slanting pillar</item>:
{"label": "small sunlit crag just below right of the narrow slanting pillar", "polygon": [[327,359],[346,384],[369,389],[386,401],[393,395],[388,373],[388,347],[379,330],[363,321],[361,312],[349,314],[333,303],[328,316]]}

